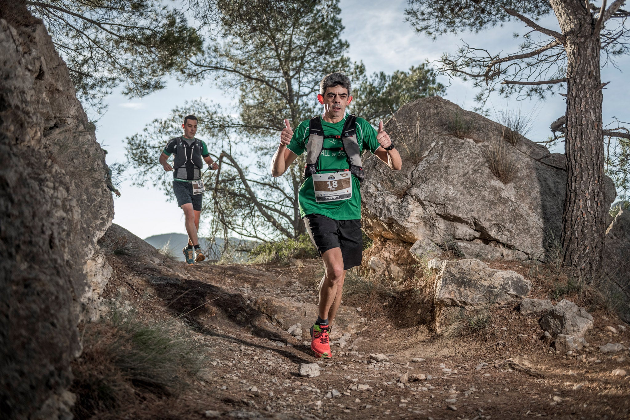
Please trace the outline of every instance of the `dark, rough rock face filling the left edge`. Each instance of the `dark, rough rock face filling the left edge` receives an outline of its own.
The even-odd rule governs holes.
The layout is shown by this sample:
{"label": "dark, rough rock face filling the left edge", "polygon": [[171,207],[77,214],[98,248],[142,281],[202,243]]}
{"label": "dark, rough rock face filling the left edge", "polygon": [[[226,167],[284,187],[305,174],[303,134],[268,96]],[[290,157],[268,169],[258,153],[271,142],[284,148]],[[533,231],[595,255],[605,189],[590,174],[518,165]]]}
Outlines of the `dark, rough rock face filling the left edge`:
{"label": "dark, rough rock face filling the left edge", "polygon": [[42,23],[0,19],[3,418],[70,418],[86,260],[113,217],[105,175],[95,125]]}

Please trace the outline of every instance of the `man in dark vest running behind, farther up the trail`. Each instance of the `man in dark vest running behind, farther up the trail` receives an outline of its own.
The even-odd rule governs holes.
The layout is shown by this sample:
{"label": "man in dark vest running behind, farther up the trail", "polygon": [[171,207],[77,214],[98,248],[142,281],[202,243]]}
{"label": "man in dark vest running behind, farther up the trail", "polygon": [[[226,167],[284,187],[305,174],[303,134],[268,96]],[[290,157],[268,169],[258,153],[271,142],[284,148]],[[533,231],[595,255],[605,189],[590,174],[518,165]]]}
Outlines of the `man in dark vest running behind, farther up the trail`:
{"label": "man in dark vest running behind, farther up the trail", "polygon": [[[159,163],[164,167],[164,171],[173,171],[173,192],[177,198],[177,205],[184,211],[188,233],[188,246],[182,251],[186,257],[186,263],[195,264],[205,259],[197,238],[203,202],[203,183],[198,184],[203,167],[202,159],[212,170],[218,169],[219,165],[212,161],[205,142],[195,139],[196,116],[186,115],[181,128],[184,129],[184,135],[168,140],[159,157]],[[166,162],[171,154],[175,154],[173,162],[175,168]]]}

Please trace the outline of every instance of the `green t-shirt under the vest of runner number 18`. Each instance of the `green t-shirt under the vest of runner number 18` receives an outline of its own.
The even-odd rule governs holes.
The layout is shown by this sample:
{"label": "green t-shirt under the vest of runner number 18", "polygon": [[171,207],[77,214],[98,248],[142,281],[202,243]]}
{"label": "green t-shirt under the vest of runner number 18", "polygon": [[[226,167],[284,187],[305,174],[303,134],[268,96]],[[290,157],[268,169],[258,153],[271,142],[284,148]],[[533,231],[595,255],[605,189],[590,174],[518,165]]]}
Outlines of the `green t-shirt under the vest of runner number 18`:
{"label": "green t-shirt under the vest of runner number 18", "polygon": [[[341,135],[345,121],[345,116],[343,120],[335,124],[321,120],[324,135]],[[287,148],[300,156],[306,150],[308,142],[309,120],[306,120],[295,128]],[[361,153],[364,149],[369,149],[370,152],[374,153],[380,146],[376,140],[376,130],[363,118],[357,118],[357,142]],[[324,147],[343,147],[343,142],[341,139],[324,139]],[[339,169],[349,169],[346,152],[343,150],[322,150],[318,162],[320,173],[335,172]],[[335,220],[361,219],[361,190],[359,181],[355,176],[352,177],[352,198],[348,198],[348,200],[316,203],[312,177],[309,176],[302,183],[298,201],[300,203],[300,217],[316,213]]]}

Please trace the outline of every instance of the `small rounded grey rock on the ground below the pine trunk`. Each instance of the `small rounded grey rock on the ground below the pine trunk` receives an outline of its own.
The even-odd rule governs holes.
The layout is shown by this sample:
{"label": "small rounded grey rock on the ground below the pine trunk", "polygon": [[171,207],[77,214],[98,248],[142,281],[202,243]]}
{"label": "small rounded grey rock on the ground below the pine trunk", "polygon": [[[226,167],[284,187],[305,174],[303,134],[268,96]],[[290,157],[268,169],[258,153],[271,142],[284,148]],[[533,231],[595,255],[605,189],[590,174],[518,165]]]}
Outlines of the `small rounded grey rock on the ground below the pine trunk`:
{"label": "small rounded grey rock on the ground below the pine trunk", "polygon": [[586,309],[578,307],[570,300],[563,299],[542,315],[540,324],[542,329],[552,336],[566,334],[583,337],[589,329],[593,328],[593,317]]}

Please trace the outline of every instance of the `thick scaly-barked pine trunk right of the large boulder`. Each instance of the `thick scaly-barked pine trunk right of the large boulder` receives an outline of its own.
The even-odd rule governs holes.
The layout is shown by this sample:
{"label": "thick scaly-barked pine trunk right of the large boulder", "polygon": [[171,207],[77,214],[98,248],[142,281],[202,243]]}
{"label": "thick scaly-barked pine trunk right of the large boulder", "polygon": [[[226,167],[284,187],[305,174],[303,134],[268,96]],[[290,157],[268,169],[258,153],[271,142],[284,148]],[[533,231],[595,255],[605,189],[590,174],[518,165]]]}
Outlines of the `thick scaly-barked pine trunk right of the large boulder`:
{"label": "thick scaly-barked pine trunk right of the large boulder", "polygon": [[564,266],[597,281],[604,257],[604,136],[600,37],[584,1],[551,0],[566,37],[566,200],[562,223]]}

